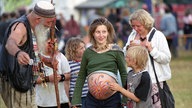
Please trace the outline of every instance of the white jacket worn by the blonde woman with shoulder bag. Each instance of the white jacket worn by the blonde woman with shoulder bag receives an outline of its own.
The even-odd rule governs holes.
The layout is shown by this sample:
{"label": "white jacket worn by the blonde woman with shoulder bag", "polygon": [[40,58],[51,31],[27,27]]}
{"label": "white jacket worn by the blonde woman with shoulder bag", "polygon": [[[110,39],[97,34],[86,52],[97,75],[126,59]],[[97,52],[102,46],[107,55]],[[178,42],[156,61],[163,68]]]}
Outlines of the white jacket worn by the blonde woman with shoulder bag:
{"label": "white jacket worn by the blonde woman with shoulder bag", "polygon": [[[150,30],[150,32],[147,34],[147,40],[153,29],[155,28],[153,27]],[[126,47],[130,44],[130,41],[135,39],[136,34],[137,34],[136,31],[133,30],[132,33],[129,35],[127,43],[123,48],[124,53],[126,51]],[[154,59],[154,65],[155,65],[155,69],[156,69],[156,73],[159,81],[161,82],[161,81],[170,79],[171,69],[170,69],[169,63],[171,61],[171,52],[169,50],[169,46],[168,46],[165,35],[161,31],[156,30],[151,40],[151,44],[152,44],[153,50],[150,52],[150,55]],[[128,67],[128,70],[130,70],[130,67]],[[146,66],[146,70],[148,70],[150,74],[152,83],[156,83],[155,74],[153,71],[153,67],[151,65],[150,58],[148,61],[148,65]]]}

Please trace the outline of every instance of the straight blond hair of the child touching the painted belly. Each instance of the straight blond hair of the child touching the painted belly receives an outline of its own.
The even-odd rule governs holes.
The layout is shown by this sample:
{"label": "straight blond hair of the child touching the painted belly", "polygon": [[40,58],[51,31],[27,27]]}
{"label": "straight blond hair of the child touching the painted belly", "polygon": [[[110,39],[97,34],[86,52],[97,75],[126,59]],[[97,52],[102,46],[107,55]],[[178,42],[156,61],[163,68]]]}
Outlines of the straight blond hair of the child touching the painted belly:
{"label": "straight blond hair of the child touching the painted belly", "polygon": [[148,62],[148,51],[143,46],[132,46],[126,51],[132,60],[135,60],[136,66],[140,69],[144,69]]}

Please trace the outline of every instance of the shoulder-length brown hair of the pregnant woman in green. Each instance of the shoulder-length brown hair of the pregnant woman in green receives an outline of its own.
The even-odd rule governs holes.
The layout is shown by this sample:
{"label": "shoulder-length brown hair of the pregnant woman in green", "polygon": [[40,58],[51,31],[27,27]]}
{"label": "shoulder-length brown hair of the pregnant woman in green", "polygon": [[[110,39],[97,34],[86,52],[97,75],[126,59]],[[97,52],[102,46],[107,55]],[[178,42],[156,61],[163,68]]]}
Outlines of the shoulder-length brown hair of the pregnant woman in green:
{"label": "shoulder-length brown hair of the pregnant woman in green", "polygon": [[115,30],[113,28],[113,25],[106,18],[101,17],[101,18],[95,19],[89,27],[88,34],[89,34],[90,41],[93,44],[93,46],[96,46],[96,41],[94,39],[93,34],[95,33],[96,28],[100,25],[105,25],[107,27],[107,30],[109,33],[109,36],[107,37],[107,44],[113,43],[114,38],[115,38]]}

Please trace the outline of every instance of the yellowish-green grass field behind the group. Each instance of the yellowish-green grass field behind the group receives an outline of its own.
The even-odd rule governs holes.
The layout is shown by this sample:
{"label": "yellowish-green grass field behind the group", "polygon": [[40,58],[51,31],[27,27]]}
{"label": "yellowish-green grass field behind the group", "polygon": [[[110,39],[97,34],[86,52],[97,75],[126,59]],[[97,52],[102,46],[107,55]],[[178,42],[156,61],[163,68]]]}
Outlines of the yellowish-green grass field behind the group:
{"label": "yellowish-green grass field behind the group", "polygon": [[[171,61],[172,79],[168,81],[176,108],[192,107],[192,51],[180,51]],[[0,97],[0,108],[6,108]]]}

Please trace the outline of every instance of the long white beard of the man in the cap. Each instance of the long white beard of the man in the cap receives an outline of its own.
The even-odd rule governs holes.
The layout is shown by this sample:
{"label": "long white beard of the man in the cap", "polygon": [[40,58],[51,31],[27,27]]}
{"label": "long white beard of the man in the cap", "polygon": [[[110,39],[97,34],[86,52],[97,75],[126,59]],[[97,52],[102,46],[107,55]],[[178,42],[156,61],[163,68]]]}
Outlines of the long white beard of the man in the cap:
{"label": "long white beard of the man in the cap", "polygon": [[46,49],[46,41],[49,36],[50,28],[39,24],[35,27],[35,35],[37,38],[37,46],[39,53],[44,53]]}

